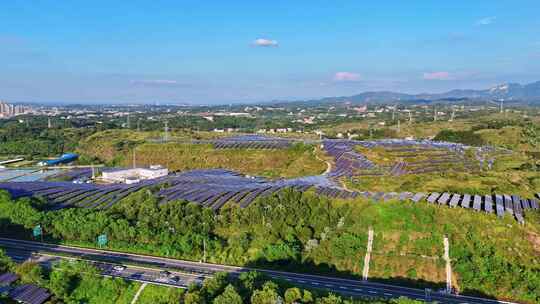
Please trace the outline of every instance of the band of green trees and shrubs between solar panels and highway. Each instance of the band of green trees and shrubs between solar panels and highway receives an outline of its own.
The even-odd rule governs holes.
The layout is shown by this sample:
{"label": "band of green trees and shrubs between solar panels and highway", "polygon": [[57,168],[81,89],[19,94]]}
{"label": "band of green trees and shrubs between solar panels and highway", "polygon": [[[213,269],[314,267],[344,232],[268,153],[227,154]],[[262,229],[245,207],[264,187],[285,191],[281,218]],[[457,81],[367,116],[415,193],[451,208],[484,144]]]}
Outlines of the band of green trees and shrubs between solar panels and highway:
{"label": "band of green trees and shrubs between solar panels and highway", "polygon": [[[117,250],[357,276],[371,226],[376,231],[374,279],[408,278],[432,287],[440,286],[433,281],[439,275],[430,272],[444,277],[441,244],[443,234],[449,234],[462,292],[540,302],[537,253],[528,240],[534,235],[508,217],[427,204],[330,201],[294,191],[259,199],[245,209],[226,205],[217,213],[183,201],[159,204],[148,190],[110,210],[45,210],[42,202],[11,201],[3,194],[0,232],[30,235],[29,229],[41,224],[46,238],[71,244],[95,246],[96,236],[105,233],[108,246]],[[528,215],[528,221],[535,218]]]}

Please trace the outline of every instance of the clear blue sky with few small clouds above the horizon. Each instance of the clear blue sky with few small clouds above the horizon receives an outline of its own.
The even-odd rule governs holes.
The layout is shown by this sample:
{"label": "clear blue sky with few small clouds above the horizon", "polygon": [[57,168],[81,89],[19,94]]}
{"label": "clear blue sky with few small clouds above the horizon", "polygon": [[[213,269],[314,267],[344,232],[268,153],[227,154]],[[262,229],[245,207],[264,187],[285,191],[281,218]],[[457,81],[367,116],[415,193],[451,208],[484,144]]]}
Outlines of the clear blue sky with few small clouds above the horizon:
{"label": "clear blue sky with few small clouds above the horizon", "polygon": [[540,80],[539,1],[0,3],[0,99],[230,103]]}

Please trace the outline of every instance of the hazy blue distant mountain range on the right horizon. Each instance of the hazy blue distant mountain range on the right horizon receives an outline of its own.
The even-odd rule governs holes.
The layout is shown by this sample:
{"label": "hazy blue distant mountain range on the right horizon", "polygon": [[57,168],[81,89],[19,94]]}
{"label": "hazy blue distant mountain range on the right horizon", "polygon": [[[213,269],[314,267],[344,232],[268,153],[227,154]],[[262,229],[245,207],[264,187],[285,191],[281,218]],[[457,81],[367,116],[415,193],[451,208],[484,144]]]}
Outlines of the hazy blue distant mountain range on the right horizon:
{"label": "hazy blue distant mountain range on the right horizon", "polygon": [[388,103],[388,102],[433,102],[494,99],[505,101],[540,102],[540,81],[519,84],[506,83],[486,90],[451,90],[437,94],[404,94],[390,91],[364,92],[353,96],[326,97],[311,102],[353,102],[353,103]]}

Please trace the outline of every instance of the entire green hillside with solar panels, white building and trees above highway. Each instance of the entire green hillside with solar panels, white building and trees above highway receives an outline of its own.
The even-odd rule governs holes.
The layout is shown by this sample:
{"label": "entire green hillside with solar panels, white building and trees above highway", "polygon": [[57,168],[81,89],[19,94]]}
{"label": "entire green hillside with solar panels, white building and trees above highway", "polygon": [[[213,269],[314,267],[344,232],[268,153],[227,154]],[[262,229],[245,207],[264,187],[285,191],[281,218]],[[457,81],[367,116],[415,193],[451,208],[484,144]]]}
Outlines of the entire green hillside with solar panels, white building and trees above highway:
{"label": "entire green hillside with solar panels, white building and trees above highway", "polygon": [[28,238],[39,222],[53,242],[106,234],[120,251],[357,279],[373,230],[369,280],[433,290],[446,236],[455,292],[538,303],[533,133],[483,124],[79,134],[74,162],[6,160],[0,233]]}

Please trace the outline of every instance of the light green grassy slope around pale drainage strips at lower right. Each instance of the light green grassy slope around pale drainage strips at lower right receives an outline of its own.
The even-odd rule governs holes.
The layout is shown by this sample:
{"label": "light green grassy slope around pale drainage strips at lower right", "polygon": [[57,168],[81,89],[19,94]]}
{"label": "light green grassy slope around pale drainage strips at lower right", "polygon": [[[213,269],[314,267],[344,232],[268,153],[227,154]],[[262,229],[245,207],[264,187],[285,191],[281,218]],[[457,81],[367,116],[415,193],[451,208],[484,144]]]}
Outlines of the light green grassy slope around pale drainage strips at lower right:
{"label": "light green grassy slope around pale drainage strips at lower right", "polygon": [[[523,285],[511,278],[506,281],[484,281],[472,286],[462,278],[470,276],[470,269],[478,267],[482,258],[475,255],[473,244],[493,247],[491,254],[502,257],[512,265],[539,265],[540,263],[540,216],[527,215],[525,226],[519,226],[514,219],[505,216],[497,219],[494,215],[479,214],[460,208],[432,206],[427,203],[369,203],[356,202],[352,214],[357,226],[363,230],[372,226],[375,231],[373,264],[370,276],[380,279],[418,280],[439,283],[445,280],[443,255],[443,235],[451,240],[450,254],[453,259],[455,281],[460,290],[479,291],[500,298],[523,299]],[[359,227],[358,227],[359,228]],[[534,239],[536,237],[536,239]],[[536,244],[534,243],[536,241]],[[535,248],[536,246],[536,248]],[[471,262],[457,259],[458,252],[475,256]],[[490,271],[499,273],[504,265],[491,265]],[[537,271],[540,271],[537,269]],[[474,276],[475,274],[472,273]]]}

